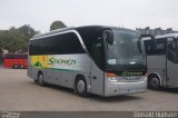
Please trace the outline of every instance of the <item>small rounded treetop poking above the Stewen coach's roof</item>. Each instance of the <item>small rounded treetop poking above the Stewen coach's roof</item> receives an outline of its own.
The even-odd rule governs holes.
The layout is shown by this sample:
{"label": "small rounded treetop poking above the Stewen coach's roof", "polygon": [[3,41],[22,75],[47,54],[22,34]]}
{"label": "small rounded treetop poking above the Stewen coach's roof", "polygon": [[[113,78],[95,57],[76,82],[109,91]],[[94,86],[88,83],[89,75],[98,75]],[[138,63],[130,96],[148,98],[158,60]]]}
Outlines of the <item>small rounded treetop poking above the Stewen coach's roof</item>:
{"label": "small rounded treetop poking above the Stewen coach's roof", "polygon": [[51,30],[56,30],[56,29],[60,29],[60,28],[66,28],[67,26],[60,21],[60,20],[57,20],[57,21],[53,21],[50,26],[50,31]]}

